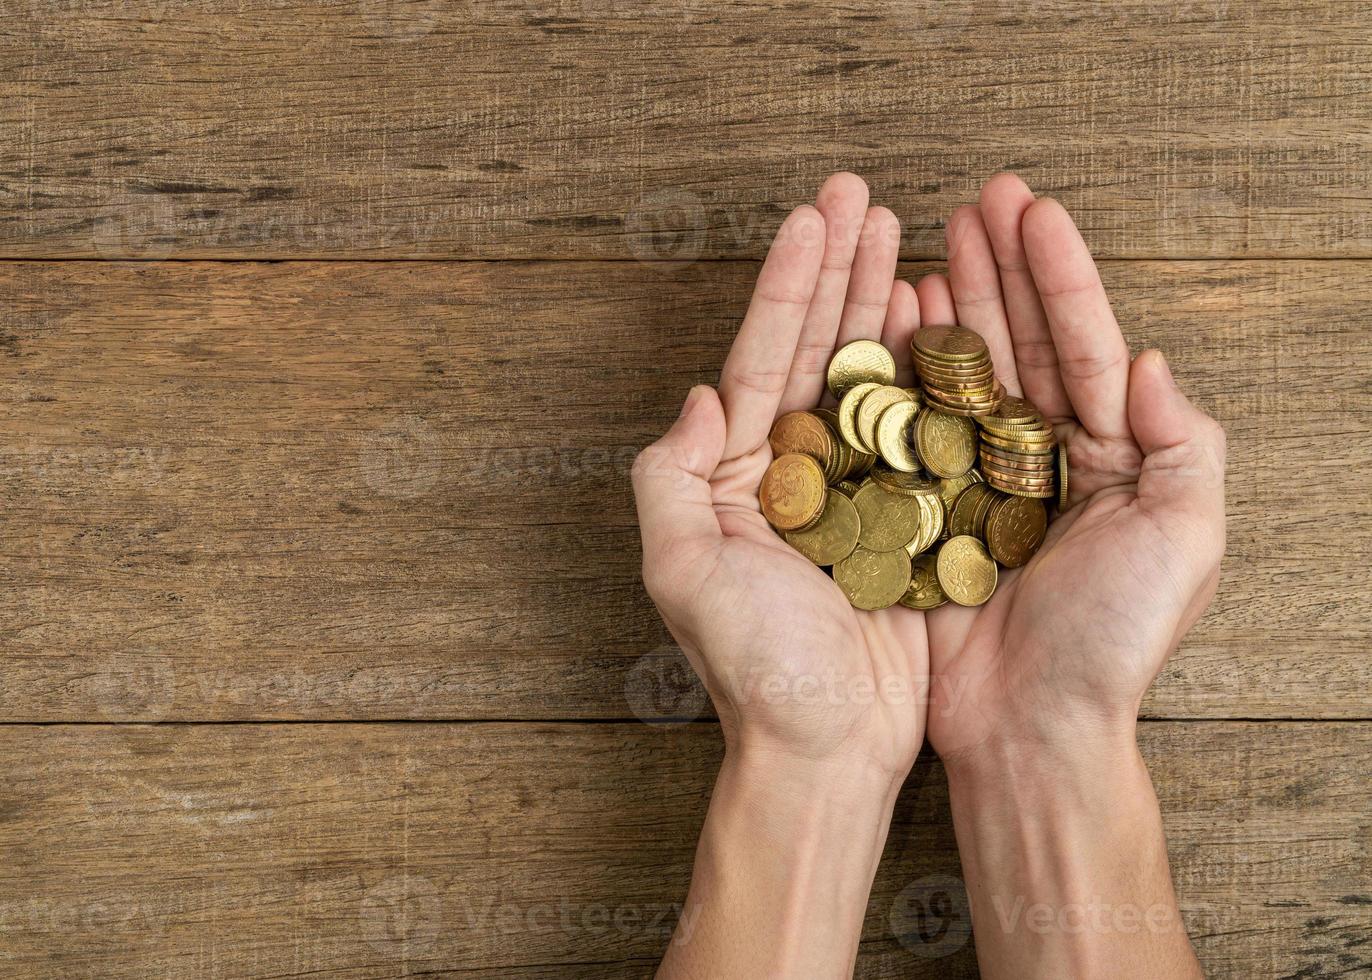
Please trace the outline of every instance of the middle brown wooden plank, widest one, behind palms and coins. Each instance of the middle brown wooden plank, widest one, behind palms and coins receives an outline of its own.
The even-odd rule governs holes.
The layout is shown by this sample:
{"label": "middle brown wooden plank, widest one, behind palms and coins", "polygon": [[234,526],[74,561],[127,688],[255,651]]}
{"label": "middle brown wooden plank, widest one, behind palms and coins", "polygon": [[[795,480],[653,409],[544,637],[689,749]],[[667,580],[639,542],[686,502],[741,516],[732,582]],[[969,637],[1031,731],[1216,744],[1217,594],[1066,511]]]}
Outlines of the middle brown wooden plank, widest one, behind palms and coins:
{"label": "middle brown wooden plank, widest one, behind palms and coins", "polygon": [[[0,716],[656,711],[628,464],[755,269],[0,265]],[[1146,714],[1372,716],[1372,264],[1104,276],[1229,430],[1224,582]]]}

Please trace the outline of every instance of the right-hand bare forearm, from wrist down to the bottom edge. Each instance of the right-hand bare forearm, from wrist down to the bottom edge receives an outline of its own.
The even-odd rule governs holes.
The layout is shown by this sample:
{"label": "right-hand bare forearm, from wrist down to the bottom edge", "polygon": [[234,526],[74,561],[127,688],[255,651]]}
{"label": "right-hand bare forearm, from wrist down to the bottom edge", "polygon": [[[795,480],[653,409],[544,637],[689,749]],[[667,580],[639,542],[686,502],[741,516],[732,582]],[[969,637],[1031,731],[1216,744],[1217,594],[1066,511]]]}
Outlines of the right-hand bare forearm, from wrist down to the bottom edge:
{"label": "right-hand bare forearm, from wrist down to the bottom edge", "polygon": [[948,771],[982,976],[1199,977],[1133,733]]}

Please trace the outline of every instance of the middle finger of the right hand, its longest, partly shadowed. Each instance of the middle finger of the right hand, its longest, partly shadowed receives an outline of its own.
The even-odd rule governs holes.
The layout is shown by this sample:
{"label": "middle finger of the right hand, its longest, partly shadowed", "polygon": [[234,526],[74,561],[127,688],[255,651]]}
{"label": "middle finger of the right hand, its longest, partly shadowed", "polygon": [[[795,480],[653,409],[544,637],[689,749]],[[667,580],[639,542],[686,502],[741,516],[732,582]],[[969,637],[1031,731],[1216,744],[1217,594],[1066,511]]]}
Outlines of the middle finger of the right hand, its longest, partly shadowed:
{"label": "middle finger of the right hand, its longest, partly shadowed", "polygon": [[1072,415],[1072,402],[1062,387],[1058,349],[1052,346],[1048,317],[1029,273],[1019,231],[1033,200],[1033,191],[1017,176],[997,174],[981,188],[981,220],[1000,272],[1000,294],[1015,350],[1019,387],[1048,419],[1061,420]]}

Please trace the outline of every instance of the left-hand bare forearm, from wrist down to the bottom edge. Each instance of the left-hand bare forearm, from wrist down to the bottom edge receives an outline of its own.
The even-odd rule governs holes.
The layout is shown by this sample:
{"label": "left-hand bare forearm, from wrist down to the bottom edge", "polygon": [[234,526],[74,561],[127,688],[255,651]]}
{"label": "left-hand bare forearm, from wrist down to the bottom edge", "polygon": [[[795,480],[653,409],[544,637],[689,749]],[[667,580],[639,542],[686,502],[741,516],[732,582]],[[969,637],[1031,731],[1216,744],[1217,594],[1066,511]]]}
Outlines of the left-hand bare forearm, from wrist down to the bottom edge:
{"label": "left-hand bare forearm, from wrist down to the bottom edge", "polygon": [[730,752],[657,976],[851,976],[897,789],[863,766]]}

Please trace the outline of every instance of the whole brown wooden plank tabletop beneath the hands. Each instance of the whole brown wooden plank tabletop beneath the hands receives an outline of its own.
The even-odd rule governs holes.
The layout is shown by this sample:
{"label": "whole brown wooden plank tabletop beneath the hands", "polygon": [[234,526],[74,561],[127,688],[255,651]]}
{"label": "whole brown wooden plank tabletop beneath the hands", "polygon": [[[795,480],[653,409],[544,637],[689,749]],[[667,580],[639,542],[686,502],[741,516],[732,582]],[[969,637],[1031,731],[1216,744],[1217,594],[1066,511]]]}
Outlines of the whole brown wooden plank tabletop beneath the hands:
{"label": "whole brown wooden plank tabletop beneath the hands", "polygon": [[[1059,196],[1225,423],[1140,725],[1181,903],[1211,976],[1372,969],[1367,4],[16,7],[0,976],[649,975],[720,744],[641,721],[701,700],[628,463],[841,167],[908,275]],[[956,874],[922,759],[859,976],[975,973],[910,935]]]}

